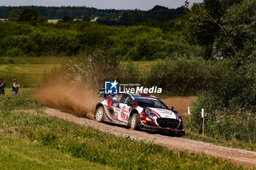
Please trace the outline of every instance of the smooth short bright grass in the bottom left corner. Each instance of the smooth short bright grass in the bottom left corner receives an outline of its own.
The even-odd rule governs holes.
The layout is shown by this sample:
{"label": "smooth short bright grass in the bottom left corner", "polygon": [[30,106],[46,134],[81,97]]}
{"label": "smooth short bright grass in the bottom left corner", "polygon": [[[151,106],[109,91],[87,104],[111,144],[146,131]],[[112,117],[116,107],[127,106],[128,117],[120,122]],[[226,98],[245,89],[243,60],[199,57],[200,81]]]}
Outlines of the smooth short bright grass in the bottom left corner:
{"label": "smooth short bright grass in the bottom left corner", "polygon": [[1,169],[110,169],[13,135],[1,134],[0,145]]}

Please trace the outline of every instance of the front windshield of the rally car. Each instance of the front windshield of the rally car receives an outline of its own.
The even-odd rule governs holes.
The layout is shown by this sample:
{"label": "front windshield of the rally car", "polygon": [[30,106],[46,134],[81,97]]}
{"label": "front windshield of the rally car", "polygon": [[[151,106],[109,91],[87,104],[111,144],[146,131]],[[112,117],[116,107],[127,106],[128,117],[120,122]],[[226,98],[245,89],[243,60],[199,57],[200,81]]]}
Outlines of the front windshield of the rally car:
{"label": "front windshield of the rally car", "polygon": [[140,107],[154,107],[159,109],[168,109],[168,107],[162,102],[151,99],[136,98],[135,101]]}

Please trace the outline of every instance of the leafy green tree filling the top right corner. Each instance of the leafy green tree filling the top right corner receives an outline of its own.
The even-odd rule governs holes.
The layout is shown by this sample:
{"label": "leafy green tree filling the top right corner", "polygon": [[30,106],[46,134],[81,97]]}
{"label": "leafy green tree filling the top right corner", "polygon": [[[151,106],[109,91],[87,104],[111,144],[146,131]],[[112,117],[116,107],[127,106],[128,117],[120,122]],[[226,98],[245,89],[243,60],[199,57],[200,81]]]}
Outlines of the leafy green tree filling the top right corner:
{"label": "leafy green tree filling the top right corner", "polygon": [[216,39],[222,51],[229,51],[230,45],[236,49],[244,61],[256,52],[256,1],[245,0],[242,4],[233,5],[221,18],[223,29]]}

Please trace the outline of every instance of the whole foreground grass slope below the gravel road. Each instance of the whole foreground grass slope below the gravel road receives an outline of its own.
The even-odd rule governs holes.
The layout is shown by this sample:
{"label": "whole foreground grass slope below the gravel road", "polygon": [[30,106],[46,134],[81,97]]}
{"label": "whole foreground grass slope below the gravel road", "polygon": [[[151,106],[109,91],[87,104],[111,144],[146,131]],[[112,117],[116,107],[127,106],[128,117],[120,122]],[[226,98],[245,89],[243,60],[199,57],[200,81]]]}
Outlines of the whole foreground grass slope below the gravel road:
{"label": "whole foreground grass slope below the gravel road", "polygon": [[[43,113],[1,112],[0,121],[1,152],[4,153],[0,154],[0,160],[6,163],[5,169],[9,169],[8,166],[40,169],[40,165],[45,165],[45,169],[50,166],[63,169],[69,163],[79,169],[82,161],[89,167],[101,164],[103,168],[115,169],[246,169],[203,154],[168,150],[150,142],[116,137]],[[52,155],[53,152],[59,156]]]}

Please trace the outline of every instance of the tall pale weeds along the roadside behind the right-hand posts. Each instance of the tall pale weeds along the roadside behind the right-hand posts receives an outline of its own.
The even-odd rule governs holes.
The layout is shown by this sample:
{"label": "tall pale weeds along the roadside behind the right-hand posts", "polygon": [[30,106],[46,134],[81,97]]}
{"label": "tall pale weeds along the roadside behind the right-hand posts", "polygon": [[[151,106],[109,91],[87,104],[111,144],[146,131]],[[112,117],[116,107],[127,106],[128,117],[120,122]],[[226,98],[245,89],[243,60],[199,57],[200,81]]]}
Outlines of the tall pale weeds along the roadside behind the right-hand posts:
{"label": "tall pale weeds along the roadside behind the right-hand posts", "polygon": [[[192,123],[189,126],[192,127],[192,131],[202,132],[202,117],[198,110],[195,112],[195,109],[192,109]],[[223,110],[215,108],[215,111],[211,112],[208,112],[206,109],[204,133],[215,139],[244,141],[256,144],[255,127],[255,112],[246,111],[239,107]]]}

